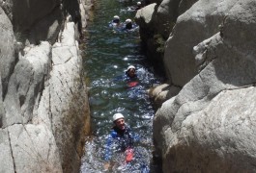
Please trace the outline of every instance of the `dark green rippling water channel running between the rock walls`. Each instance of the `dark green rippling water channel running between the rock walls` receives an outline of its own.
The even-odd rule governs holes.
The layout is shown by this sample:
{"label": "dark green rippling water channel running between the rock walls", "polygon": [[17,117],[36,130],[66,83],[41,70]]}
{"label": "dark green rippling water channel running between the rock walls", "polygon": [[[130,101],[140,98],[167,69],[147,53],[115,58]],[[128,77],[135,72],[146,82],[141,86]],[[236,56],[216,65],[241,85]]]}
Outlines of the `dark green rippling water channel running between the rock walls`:
{"label": "dark green rippling water channel running between the rock walls", "polygon": [[[84,51],[84,68],[92,117],[92,134],[85,144],[81,173],[97,172],[142,172],[147,166],[150,172],[157,171],[153,163],[152,124],[155,111],[147,89],[161,83],[153,65],[148,62],[140,46],[138,30],[115,32],[108,22],[114,15],[121,21],[133,19],[135,12],[128,7],[136,2],[97,0],[92,21],[88,25],[88,38]],[[136,66],[139,83],[128,86],[124,80],[128,65]],[[135,161],[126,165],[125,154],[113,156],[113,167],[103,168],[106,137],[113,126],[112,116],[122,112],[132,131],[140,136],[135,143]]]}

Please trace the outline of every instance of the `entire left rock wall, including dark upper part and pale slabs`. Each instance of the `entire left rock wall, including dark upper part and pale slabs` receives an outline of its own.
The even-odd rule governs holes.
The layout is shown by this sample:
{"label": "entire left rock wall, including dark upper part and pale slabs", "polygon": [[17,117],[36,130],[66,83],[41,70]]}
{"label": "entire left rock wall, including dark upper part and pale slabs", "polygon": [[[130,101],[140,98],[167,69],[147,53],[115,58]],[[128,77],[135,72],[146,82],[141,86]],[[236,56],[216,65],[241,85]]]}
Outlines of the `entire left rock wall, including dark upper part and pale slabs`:
{"label": "entire left rock wall, including dark upper part and pale slabs", "polygon": [[77,32],[92,3],[66,3],[0,1],[0,172],[79,171],[90,113]]}

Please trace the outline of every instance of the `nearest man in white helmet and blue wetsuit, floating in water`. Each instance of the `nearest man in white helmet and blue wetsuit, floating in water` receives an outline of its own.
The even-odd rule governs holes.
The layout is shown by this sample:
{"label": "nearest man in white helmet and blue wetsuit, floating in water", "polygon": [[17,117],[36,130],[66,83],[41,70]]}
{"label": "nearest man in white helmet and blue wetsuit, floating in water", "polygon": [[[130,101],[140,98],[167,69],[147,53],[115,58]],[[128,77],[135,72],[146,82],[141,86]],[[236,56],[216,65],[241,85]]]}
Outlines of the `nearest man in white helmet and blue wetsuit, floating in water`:
{"label": "nearest man in white helmet and blue wetsuit, floating in water", "polygon": [[[127,161],[132,161],[132,147],[133,142],[138,140],[138,136],[134,136],[130,132],[130,128],[125,122],[125,117],[122,113],[115,113],[113,115],[113,123],[114,126],[111,129],[110,135],[107,137],[106,140],[106,148],[105,148],[105,155],[104,161],[104,169],[108,170],[110,167],[110,160],[112,150],[115,149],[116,151],[120,152],[127,152],[129,155],[127,156]],[[115,148],[113,148],[115,147]]]}

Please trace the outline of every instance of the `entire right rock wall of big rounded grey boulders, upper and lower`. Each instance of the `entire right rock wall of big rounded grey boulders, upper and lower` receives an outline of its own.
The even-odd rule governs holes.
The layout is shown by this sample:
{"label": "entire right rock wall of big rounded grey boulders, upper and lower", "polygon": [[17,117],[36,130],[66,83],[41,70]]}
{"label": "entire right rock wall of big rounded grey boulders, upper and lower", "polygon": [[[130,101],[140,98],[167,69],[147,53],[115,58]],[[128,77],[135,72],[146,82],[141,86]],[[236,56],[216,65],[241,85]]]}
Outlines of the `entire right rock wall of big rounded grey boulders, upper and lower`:
{"label": "entire right rock wall of big rounded grey boulders, upper and lower", "polygon": [[156,111],[163,172],[255,172],[256,2],[199,0],[165,44],[170,84]]}

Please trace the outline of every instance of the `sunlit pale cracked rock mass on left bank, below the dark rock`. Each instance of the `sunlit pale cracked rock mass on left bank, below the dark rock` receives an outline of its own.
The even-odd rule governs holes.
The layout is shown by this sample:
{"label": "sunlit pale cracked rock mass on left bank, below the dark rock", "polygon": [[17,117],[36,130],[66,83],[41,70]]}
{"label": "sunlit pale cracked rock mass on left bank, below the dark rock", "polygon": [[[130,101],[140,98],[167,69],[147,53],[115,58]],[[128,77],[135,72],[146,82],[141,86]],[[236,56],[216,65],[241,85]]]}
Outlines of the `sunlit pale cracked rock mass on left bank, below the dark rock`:
{"label": "sunlit pale cracked rock mass on left bank, below the dark rock", "polygon": [[11,165],[16,172],[79,171],[84,137],[90,131],[81,72],[73,22],[53,47],[45,41],[25,48],[0,107],[2,127],[8,129],[1,132],[0,147],[12,158],[0,167]]}

